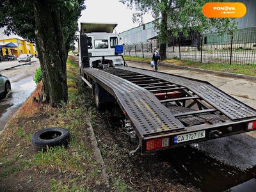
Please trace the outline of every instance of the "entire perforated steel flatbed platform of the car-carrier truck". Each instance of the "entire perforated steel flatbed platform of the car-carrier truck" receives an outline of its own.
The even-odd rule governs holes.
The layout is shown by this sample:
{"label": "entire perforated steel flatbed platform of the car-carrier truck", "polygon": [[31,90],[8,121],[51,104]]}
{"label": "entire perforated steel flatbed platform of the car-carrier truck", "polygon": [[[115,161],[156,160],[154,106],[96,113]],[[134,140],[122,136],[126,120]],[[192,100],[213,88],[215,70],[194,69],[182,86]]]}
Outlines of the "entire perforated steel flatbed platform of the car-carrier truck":
{"label": "entire perforated steel flatbed platform of the car-carrier truck", "polygon": [[[179,147],[194,139],[252,131],[248,124],[254,126],[256,121],[255,109],[206,81],[134,67],[86,67],[81,72],[92,89],[93,83],[99,84],[115,97],[140,138],[143,152],[162,142],[157,138],[170,144],[166,148]],[[198,138],[177,141],[178,136],[190,137],[189,133]],[[149,140],[156,140],[152,141],[155,144]]]}

